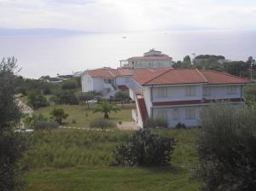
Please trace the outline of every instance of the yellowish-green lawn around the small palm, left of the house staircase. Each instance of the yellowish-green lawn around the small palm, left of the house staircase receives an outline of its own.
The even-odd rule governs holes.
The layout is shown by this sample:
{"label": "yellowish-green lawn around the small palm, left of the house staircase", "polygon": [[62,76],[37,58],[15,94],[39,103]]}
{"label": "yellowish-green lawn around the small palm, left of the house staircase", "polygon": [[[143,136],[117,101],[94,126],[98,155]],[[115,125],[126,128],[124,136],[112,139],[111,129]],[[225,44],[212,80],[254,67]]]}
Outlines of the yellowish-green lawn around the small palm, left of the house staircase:
{"label": "yellowish-green lawn around the small palm, left of the house staircase", "polygon": [[[56,108],[63,108],[66,113],[68,113],[68,118],[64,120],[63,125],[73,126],[73,127],[89,127],[90,121],[95,119],[101,119],[103,117],[102,113],[92,113],[92,107],[87,108],[82,105],[56,105]],[[120,106],[121,111],[118,113],[110,113],[109,119],[113,122],[119,121],[132,121],[131,119],[131,108],[134,108],[135,105],[124,105],[124,107]],[[43,114],[45,117],[49,118],[49,112],[54,107],[40,107],[35,111],[35,114]],[[88,114],[88,118],[86,120],[85,114]],[[73,123],[75,120],[76,123]]]}

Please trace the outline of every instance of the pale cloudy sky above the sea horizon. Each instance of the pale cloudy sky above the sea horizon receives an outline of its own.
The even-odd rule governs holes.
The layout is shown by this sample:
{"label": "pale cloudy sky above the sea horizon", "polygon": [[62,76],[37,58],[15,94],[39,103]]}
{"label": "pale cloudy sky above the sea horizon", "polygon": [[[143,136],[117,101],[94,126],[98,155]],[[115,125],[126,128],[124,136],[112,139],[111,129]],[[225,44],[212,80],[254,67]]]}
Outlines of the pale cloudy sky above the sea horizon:
{"label": "pale cloudy sky above the sea horizon", "polygon": [[256,1],[0,0],[0,26],[86,32],[256,30]]}

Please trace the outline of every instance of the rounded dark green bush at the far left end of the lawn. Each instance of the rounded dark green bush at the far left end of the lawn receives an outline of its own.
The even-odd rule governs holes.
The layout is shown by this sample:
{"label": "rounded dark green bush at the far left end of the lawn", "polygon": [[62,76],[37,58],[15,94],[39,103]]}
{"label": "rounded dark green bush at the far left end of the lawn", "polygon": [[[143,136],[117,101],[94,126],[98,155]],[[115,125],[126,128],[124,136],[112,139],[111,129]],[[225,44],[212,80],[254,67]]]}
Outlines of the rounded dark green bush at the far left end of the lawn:
{"label": "rounded dark green bush at the far left end of the lawn", "polygon": [[49,105],[48,101],[43,95],[37,95],[35,92],[32,92],[27,96],[27,104],[32,106],[34,109]]}

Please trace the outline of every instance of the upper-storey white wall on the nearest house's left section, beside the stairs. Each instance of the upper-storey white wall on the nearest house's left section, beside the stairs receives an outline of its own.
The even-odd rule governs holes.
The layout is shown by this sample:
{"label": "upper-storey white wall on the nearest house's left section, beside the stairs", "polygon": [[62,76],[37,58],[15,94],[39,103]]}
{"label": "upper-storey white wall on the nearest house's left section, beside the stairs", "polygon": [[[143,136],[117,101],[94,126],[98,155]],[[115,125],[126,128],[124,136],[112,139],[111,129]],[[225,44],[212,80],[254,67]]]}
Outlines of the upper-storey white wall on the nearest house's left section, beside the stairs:
{"label": "upper-storey white wall on the nearest house's left section, beside the stairs", "polygon": [[152,101],[185,101],[185,100],[201,100],[202,98],[202,87],[201,85],[191,85],[195,87],[195,96],[186,96],[186,87],[187,86],[162,86],[166,88],[167,96],[159,97],[158,88],[154,87],[152,89]]}

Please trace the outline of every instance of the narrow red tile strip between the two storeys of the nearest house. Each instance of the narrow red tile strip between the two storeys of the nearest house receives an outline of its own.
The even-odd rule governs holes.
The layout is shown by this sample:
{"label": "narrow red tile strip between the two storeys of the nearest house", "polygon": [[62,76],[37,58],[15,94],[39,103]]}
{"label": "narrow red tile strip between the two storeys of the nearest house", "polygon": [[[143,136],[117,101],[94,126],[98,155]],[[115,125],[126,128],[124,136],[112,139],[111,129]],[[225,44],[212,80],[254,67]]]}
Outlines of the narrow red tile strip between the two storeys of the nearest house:
{"label": "narrow red tile strip between the two storeys of the nearest house", "polygon": [[219,99],[219,100],[186,100],[186,101],[160,101],[153,102],[152,105],[154,107],[162,107],[162,106],[182,106],[182,105],[198,105],[198,104],[207,104],[216,101],[230,101],[230,102],[244,102],[243,98],[231,98],[231,99]]}

